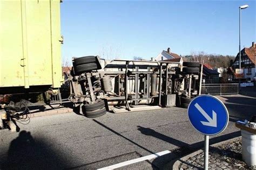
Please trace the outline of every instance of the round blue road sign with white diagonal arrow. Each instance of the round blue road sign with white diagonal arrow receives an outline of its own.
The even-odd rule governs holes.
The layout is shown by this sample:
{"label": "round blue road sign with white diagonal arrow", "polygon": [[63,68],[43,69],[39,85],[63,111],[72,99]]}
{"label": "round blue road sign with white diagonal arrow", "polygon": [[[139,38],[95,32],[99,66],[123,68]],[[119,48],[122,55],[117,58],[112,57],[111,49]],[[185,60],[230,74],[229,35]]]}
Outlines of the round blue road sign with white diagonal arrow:
{"label": "round blue road sign with white diagonal arrow", "polygon": [[214,135],[224,131],[228,124],[228,111],[223,102],[211,95],[194,98],[187,109],[191,125],[200,133]]}

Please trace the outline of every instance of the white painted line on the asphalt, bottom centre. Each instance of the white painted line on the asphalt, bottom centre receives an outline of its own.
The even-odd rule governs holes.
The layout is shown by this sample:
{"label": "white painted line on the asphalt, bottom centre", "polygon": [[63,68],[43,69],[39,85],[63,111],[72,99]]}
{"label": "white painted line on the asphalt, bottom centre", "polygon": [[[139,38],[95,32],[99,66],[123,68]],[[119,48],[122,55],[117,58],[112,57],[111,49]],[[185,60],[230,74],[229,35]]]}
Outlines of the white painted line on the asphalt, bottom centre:
{"label": "white painted line on the asphalt, bottom centre", "polygon": [[100,168],[100,170],[120,168],[120,167],[123,167],[123,166],[127,166],[127,165],[130,165],[130,164],[141,162],[141,161],[144,161],[144,160],[150,160],[150,159],[153,159],[153,158],[157,158],[157,157],[160,157],[160,156],[162,156],[164,154],[167,154],[167,153],[171,153],[171,152],[166,150],[166,151],[150,154],[150,155],[147,155],[145,157],[140,157],[140,158],[124,161],[124,162],[121,162],[119,164],[114,164],[114,165],[111,165],[111,166]]}

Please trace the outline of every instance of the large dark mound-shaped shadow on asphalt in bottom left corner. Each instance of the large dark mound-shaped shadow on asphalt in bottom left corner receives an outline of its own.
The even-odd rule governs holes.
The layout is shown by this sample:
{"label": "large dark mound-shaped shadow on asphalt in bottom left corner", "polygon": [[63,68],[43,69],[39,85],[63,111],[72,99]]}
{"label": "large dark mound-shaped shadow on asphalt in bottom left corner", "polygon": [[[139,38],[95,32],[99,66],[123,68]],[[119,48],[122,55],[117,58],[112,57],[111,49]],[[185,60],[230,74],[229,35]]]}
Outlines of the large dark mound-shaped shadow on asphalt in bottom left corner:
{"label": "large dark mound-shaped shadow on asphalt in bottom left corner", "polygon": [[69,161],[41,139],[34,139],[30,132],[21,131],[11,141],[0,169],[63,169]]}

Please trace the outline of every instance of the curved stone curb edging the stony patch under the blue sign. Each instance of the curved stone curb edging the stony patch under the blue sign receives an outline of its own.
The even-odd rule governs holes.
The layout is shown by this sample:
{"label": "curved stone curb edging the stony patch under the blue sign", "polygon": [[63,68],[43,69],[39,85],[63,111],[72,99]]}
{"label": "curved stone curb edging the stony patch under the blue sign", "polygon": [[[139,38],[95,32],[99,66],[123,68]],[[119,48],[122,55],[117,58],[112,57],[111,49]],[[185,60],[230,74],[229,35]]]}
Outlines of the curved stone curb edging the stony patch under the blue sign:
{"label": "curved stone curb edging the stony patch under the blue sign", "polygon": [[[215,146],[219,146],[219,145],[222,145],[222,144],[225,144],[225,143],[229,143],[231,141],[234,141],[234,140],[237,140],[241,138],[241,136],[239,137],[235,137],[235,138],[232,138],[232,139],[227,139],[227,140],[224,140],[224,141],[220,141],[219,143],[215,143],[215,144],[212,144],[210,146],[212,147],[215,147]],[[185,155],[184,157],[181,157],[181,158],[178,158],[178,159],[175,159],[175,160],[172,160],[170,161],[169,163],[167,163],[165,166],[164,166],[164,169],[179,169],[179,165],[181,163],[183,163],[184,161],[186,161],[188,158],[190,157],[194,157],[195,155],[199,154],[199,153],[202,153],[204,152],[203,148],[201,148],[200,150],[197,150],[195,152],[192,152],[190,154],[187,154]]]}

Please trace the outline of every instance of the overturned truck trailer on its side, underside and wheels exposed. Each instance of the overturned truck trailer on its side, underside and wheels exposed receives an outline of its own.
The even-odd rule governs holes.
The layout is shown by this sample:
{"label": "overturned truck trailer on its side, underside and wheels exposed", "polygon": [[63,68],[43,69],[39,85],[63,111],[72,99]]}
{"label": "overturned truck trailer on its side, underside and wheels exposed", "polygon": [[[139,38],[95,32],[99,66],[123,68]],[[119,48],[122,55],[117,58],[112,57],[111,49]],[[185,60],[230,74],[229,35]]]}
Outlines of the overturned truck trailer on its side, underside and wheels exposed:
{"label": "overturned truck trailer on its side, underside and wheels exposed", "polygon": [[112,60],[100,62],[99,56],[73,58],[68,75],[69,100],[82,104],[86,117],[106,113],[108,105],[152,104],[187,108],[199,95],[199,62]]}

